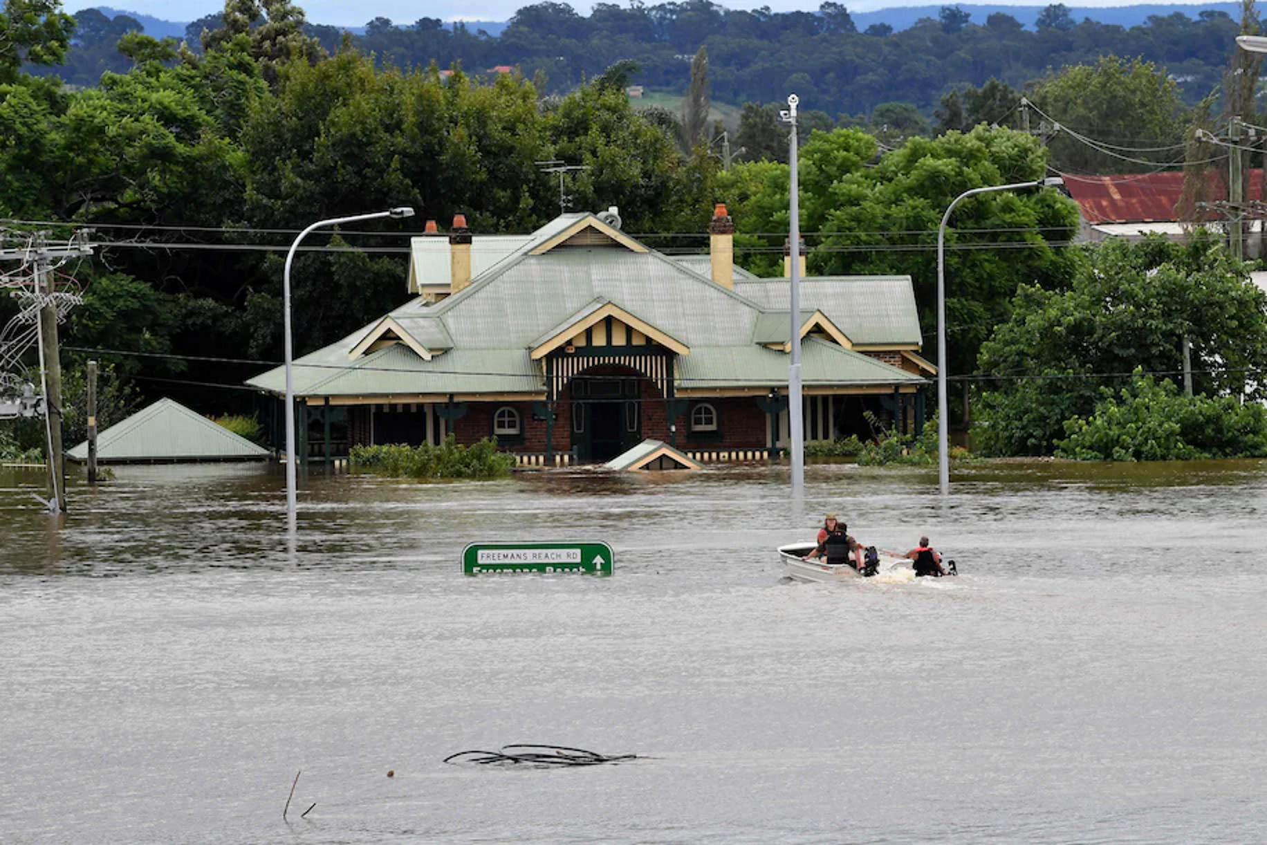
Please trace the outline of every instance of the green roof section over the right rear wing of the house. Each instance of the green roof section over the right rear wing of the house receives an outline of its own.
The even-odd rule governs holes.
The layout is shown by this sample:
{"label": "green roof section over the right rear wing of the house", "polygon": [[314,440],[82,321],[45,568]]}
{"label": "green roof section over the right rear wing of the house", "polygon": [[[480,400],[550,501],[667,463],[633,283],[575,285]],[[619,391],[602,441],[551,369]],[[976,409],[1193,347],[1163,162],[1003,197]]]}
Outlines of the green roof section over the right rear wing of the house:
{"label": "green roof section over the right rear wing of the house", "polygon": [[[736,279],[735,291],[764,310],[786,312],[792,298],[787,279]],[[910,276],[808,276],[801,280],[801,308],[821,310],[854,343],[922,342]]]}

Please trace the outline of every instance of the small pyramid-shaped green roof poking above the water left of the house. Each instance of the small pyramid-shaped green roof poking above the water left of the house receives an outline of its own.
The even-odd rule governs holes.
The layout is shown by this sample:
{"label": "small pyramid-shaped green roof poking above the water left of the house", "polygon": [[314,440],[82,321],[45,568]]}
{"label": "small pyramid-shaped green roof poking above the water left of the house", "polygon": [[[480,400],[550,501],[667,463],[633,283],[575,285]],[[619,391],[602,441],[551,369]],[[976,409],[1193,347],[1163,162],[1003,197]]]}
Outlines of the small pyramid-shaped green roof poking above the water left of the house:
{"label": "small pyramid-shaped green roof poking above the water left of the house", "polygon": [[[87,441],[67,455],[87,460]],[[171,399],[160,399],[96,437],[96,456],[110,461],[261,460],[269,451]]]}

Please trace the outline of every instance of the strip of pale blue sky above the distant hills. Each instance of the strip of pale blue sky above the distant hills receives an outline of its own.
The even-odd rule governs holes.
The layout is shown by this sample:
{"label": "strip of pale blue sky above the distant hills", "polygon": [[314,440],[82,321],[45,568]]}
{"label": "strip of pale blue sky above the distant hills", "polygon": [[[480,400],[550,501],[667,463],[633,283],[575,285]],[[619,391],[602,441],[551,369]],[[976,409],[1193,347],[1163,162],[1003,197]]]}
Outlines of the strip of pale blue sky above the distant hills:
{"label": "strip of pale blue sky above the distant hills", "polygon": [[[298,5],[308,15],[308,20],[319,24],[333,24],[336,27],[360,27],[372,18],[390,18],[398,24],[413,23],[418,18],[442,18],[445,20],[507,20],[516,9],[526,6],[535,0],[438,0],[433,3],[417,3],[414,0],[366,0],[365,3],[350,3],[348,0],[298,0]],[[614,0],[622,3],[623,0]],[[647,0],[647,5],[654,5],[658,0]],[[982,1],[982,0],[977,0]],[[987,0],[1000,5],[1047,5],[1043,0],[1029,0],[1022,3],[1009,3],[1009,0]],[[1166,3],[1166,0],[1148,0],[1150,3]],[[1188,0],[1192,1],[1192,0]],[[1121,0],[1064,0],[1067,6],[1121,6]],[[817,0],[753,0],[753,3],[722,3],[731,9],[755,9],[768,5],[774,11],[791,11],[793,9],[817,9]],[[859,0],[858,3],[845,3],[851,11],[872,11],[892,6],[922,6],[940,5],[939,0],[908,0],[893,3],[892,0]],[[75,13],[80,9],[95,6],[109,6],[111,9],[127,9],[144,15],[153,15],[163,20],[196,20],[203,15],[219,11],[223,3],[214,0],[89,0],[86,3],[75,0],[65,1],[66,11]],[[593,0],[578,0],[571,6],[582,14],[589,14]]]}

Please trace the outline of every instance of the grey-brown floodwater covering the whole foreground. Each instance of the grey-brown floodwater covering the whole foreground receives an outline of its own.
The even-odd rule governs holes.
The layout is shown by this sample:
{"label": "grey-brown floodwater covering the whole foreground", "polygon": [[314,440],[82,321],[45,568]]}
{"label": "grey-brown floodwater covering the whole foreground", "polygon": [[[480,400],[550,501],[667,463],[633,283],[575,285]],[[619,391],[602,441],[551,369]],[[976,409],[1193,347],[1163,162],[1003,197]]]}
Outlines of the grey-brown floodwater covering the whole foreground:
{"label": "grey-brown floodwater covering the whole foreground", "polygon": [[[1267,839],[1267,464],[313,476],[293,551],[276,470],[117,474],[0,470],[4,842]],[[826,509],[963,575],[784,583]],[[559,538],[614,576],[460,574]],[[441,763],[512,742],[645,759]]]}

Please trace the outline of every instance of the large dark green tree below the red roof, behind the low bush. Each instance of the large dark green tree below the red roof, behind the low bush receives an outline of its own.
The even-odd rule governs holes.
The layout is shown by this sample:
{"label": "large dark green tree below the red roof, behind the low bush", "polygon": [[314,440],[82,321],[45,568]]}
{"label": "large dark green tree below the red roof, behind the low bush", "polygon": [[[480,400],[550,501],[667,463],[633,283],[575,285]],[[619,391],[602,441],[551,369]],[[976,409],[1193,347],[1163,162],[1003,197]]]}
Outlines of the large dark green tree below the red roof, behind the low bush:
{"label": "large dark green tree below the red roof, behind the low bush", "polygon": [[1267,298],[1244,267],[1204,238],[1091,248],[1068,286],[1022,285],[1012,315],[981,348],[988,381],[974,442],[996,455],[1044,455],[1064,422],[1090,417],[1101,388],[1130,374],[1175,375],[1183,338],[1194,386],[1209,397],[1263,398],[1252,371],[1267,365]]}

